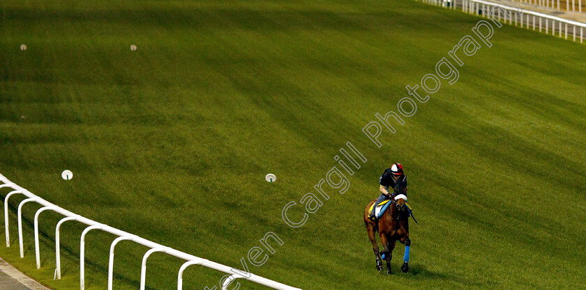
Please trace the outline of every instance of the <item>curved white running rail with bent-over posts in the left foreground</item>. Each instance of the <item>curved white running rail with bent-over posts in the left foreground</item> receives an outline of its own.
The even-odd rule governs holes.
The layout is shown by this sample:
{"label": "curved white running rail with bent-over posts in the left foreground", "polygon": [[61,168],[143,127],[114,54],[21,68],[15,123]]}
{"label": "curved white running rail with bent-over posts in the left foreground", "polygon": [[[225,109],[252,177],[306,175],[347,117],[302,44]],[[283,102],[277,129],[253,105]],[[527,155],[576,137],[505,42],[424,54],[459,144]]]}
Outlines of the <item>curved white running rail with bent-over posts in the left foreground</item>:
{"label": "curved white running rail with bent-over posts in the left foreground", "polygon": [[[128,232],[124,232],[120,229],[116,229],[114,227],[110,227],[109,225],[104,225],[102,223],[98,223],[94,220],[90,220],[89,218],[84,218],[83,216],[80,216],[78,214],[73,214],[71,211],[68,211],[66,209],[62,209],[61,207],[58,207],[55,204],[52,204],[51,202],[47,202],[47,200],[44,200],[43,198],[38,197],[37,195],[31,193],[30,191],[27,191],[26,188],[22,188],[21,186],[18,186],[17,184],[10,182],[10,180],[8,180],[8,178],[4,177],[4,175],[0,174],[0,181],[3,182],[3,184],[0,184],[0,188],[12,188],[13,191],[10,191],[10,193],[6,194],[6,198],[4,198],[4,225],[5,225],[5,229],[6,229],[6,247],[10,247],[10,232],[8,229],[8,198],[10,198],[10,196],[15,195],[15,194],[22,194],[24,196],[27,197],[27,199],[22,200],[22,202],[20,202],[18,204],[18,241],[19,241],[19,245],[20,245],[20,257],[24,257],[24,250],[23,250],[23,241],[22,241],[22,207],[25,203],[27,202],[36,202],[40,205],[42,205],[43,207],[41,207],[40,209],[38,209],[38,211],[35,214],[35,218],[34,218],[34,225],[35,225],[35,254],[36,254],[36,266],[37,268],[40,268],[40,250],[39,250],[39,245],[38,245],[38,217],[40,215],[41,212],[43,211],[54,211],[58,214],[61,214],[63,216],[65,216],[64,218],[62,218],[61,220],[59,220],[59,223],[57,223],[57,227],[55,229],[55,259],[56,259],[56,277],[57,279],[61,279],[61,258],[60,258],[60,253],[59,253],[59,227],[61,227],[61,225],[68,221],[68,220],[75,220],[78,223],[82,223],[84,225],[87,225],[88,227],[86,227],[86,229],[84,229],[84,232],[82,233],[82,236],[80,238],[80,289],[84,290],[85,288],[85,283],[84,283],[84,240],[85,240],[85,235],[87,234],[87,232],[91,231],[92,229],[100,229],[103,232],[108,232],[110,234],[114,234],[115,236],[119,236],[117,239],[115,239],[112,242],[112,245],[110,245],[110,260],[108,263],[108,290],[112,290],[112,279],[113,279],[113,273],[114,273],[114,246],[119,242],[119,241],[123,241],[123,240],[128,240],[128,241],[133,241],[134,243],[138,243],[140,245],[144,245],[147,248],[151,248],[151,250],[149,250],[144,257],[142,258],[142,267],[141,267],[141,277],[140,277],[140,289],[144,289],[145,284],[146,284],[146,280],[147,280],[147,258],[149,257],[149,255],[151,255],[153,252],[163,252],[167,255],[171,255],[173,257],[177,257],[179,259],[183,259],[186,262],[183,264],[183,266],[181,266],[181,268],[179,268],[179,273],[178,273],[178,277],[177,277],[177,290],[181,290],[183,287],[183,271],[188,267],[188,266],[192,266],[192,265],[199,265],[199,266],[204,266],[207,268],[212,268],[213,270],[216,271],[220,271],[226,274],[231,275],[230,277],[227,277],[227,279],[225,280],[225,282],[222,285],[222,289],[226,290],[227,287],[230,285],[230,282],[236,280],[236,279],[246,279],[249,280],[250,282],[255,282],[257,284],[261,284],[264,285],[266,287],[272,288],[272,289],[279,289],[279,290],[301,290],[299,288],[295,288],[295,287],[290,287],[287,286],[285,284],[273,281],[273,280],[269,280],[266,279],[264,277],[260,277],[258,275],[255,275],[253,273],[248,273],[250,276],[244,276],[241,275],[239,273],[236,273],[234,271],[232,271],[233,268],[229,267],[229,266],[225,266],[223,264],[218,264],[214,261],[209,261],[208,259],[203,259],[200,257],[195,257],[193,255],[187,254],[186,252],[181,252],[179,250],[175,250],[173,248],[169,248],[166,247],[164,245],[160,245],[158,243],[155,243],[153,241],[149,241],[147,239],[143,239],[140,236],[136,236],[135,234],[130,234]],[[244,271],[239,271],[241,273],[245,273]]]}

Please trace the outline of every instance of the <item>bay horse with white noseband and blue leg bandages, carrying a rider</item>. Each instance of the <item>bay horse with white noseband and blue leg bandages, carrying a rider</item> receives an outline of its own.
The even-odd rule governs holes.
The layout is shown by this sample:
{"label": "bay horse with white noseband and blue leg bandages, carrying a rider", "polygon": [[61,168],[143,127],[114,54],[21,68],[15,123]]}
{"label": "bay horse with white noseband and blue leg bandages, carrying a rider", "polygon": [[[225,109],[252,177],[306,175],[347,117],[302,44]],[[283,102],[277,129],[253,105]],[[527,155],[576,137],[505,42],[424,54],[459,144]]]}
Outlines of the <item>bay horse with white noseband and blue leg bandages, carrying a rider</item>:
{"label": "bay horse with white noseband and blue leg bandages, carrying a rider", "polygon": [[[395,199],[399,195],[405,195],[406,199],[407,188],[402,182],[398,182],[395,185],[395,190],[392,195],[393,204],[389,205],[378,221],[373,221],[368,218],[368,209],[370,209],[376,200],[373,200],[366,206],[363,216],[368,239],[373,243],[373,251],[377,259],[377,271],[382,271],[382,260],[385,260],[387,274],[391,274],[391,258],[393,257],[393,249],[395,248],[396,241],[405,244],[405,257],[403,258],[401,271],[403,273],[409,271],[409,250],[411,245],[411,240],[409,239],[409,210],[403,198]],[[375,232],[379,233],[380,243],[384,248],[382,252],[379,252]]]}

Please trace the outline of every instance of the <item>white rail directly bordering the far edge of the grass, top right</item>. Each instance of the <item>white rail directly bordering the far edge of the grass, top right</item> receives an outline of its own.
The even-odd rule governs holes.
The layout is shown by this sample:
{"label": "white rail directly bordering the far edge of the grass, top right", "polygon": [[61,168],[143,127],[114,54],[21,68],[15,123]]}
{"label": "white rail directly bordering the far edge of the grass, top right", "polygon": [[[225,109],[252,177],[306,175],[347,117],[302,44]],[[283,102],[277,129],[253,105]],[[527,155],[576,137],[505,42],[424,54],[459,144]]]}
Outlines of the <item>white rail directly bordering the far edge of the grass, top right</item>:
{"label": "white rail directly bordering the far edge of the grass, top right", "polygon": [[508,20],[509,24],[511,25],[513,22],[515,22],[515,26],[520,24],[521,28],[523,28],[523,25],[525,25],[526,29],[532,29],[534,31],[539,29],[539,32],[545,29],[546,34],[548,34],[549,31],[551,31],[552,35],[558,33],[559,38],[568,39],[568,35],[572,35],[573,41],[577,41],[576,38],[578,38],[580,43],[584,42],[584,31],[586,30],[586,24],[582,22],[576,22],[543,13],[537,13],[531,10],[521,9],[520,7],[506,6],[503,4],[483,0],[422,1],[423,3],[442,6],[449,9],[456,9],[456,7],[460,6],[463,12],[469,14],[488,17],[491,19],[498,19],[499,22],[502,18],[504,19],[503,23],[506,23]]}

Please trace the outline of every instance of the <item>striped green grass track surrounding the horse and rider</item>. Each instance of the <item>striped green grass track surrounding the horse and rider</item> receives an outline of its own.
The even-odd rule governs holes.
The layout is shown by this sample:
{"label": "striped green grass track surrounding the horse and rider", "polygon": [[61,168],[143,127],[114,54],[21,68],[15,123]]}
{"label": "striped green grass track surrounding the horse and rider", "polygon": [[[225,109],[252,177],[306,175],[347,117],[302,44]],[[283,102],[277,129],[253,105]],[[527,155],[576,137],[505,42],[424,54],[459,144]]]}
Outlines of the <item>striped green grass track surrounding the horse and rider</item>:
{"label": "striped green grass track surrounding the horse and rider", "polygon": [[[382,147],[361,131],[375,113],[396,111],[405,86],[433,73],[479,20],[410,0],[4,0],[0,172],[77,214],[236,268],[275,232],[283,245],[249,270],[305,290],[578,289],[583,45],[505,25],[493,47],[462,56],[456,83],[442,82],[396,134],[383,131]],[[348,191],[324,186],[331,198],[320,210],[286,225],[285,204],[317,194],[347,141],[368,159],[348,175]],[[410,273],[399,271],[398,245],[389,276],[375,271],[362,212],[394,162],[405,166],[419,224]],[[20,259],[20,200],[10,200],[13,245],[0,257],[54,290],[79,289],[84,227],[63,225],[63,279],[54,281],[61,216],[41,216],[37,270],[38,206],[24,207]],[[88,234],[86,289],[106,289],[114,238]],[[114,289],[138,288],[147,250],[117,246]],[[152,255],[147,289],[176,289],[182,262]],[[191,267],[183,289],[219,287],[222,276]]]}

